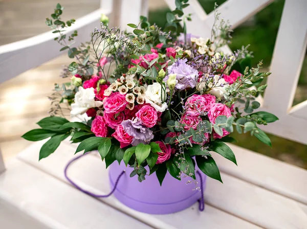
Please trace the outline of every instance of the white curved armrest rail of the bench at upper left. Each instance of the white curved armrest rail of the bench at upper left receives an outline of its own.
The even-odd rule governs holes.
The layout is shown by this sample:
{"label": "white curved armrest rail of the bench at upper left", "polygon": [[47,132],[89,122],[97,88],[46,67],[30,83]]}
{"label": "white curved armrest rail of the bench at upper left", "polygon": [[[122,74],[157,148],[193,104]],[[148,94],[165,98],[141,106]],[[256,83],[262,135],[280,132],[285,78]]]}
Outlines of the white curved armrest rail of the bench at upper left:
{"label": "white curved armrest rail of the bench at upper left", "polygon": [[[110,12],[96,10],[77,19],[75,25],[64,33],[70,34],[77,29],[79,36],[76,38],[76,45],[88,41],[93,28],[100,25],[101,13],[109,14]],[[56,36],[56,34],[47,32],[29,39],[2,45],[0,47],[0,68],[4,74],[0,78],[0,83],[59,56],[58,44],[53,40]],[[16,62],[18,62],[18,67],[13,65]]]}

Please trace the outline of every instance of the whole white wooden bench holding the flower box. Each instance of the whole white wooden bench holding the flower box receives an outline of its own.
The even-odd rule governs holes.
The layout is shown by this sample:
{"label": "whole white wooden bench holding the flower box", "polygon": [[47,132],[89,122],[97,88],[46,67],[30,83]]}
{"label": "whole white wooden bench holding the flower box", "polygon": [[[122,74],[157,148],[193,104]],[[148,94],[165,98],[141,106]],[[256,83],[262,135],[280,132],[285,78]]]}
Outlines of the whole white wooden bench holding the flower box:
{"label": "whole white wooden bench holding the flower box", "polygon": [[[133,0],[133,7],[131,1],[102,0],[101,9],[77,19],[67,33],[77,29],[77,42],[88,40],[102,12],[113,18],[114,25],[135,23],[140,14],[147,14],[148,1]],[[175,8],[173,0],[165,2]],[[186,11],[193,13],[193,20],[188,32],[208,37],[213,13],[207,15],[197,0],[189,2]],[[271,2],[228,0],[218,10],[236,27]],[[306,11],[306,1],[286,0],[262,107],[280,118],[267,132],[304,144],[307,103],[292,107],[292,101],[307,43]],[[53,38],[49,32],[0,47],[0,83],[58,56]],[[290,41],[295,43],[289,45]],[[198,212],[194,205],[171,215],[147,215],[128,209],[114,197],[95,199],[80,193],[63,176],[75,146],[64,142],[48,159],[38,162],[41,145],[37,142],[22,151],[6,171],[0,157],[1,228],[307,228],[307,172],[234,145],[238,167],[215,157],[224,184],[208,179],[205,211]],[[98,155],[85,156],[76,164],[70,176],[78,184],[96,193],[108,192],[107,171]]]}

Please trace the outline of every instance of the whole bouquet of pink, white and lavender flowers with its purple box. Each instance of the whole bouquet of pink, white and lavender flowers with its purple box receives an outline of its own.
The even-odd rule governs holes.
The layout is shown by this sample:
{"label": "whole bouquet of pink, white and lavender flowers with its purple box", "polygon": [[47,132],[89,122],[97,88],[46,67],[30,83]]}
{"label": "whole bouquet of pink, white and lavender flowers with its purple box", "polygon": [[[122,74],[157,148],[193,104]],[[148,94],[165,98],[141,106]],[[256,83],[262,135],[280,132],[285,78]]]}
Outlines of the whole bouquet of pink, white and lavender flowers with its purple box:
{"label": "whole bouquet of pink, white and lavender flowers with its purple box", "polygon": [[[76,153],[98,150],[111,167],[110,183],[118,185],[120,201],[144,212],[169,213],[202,198],[206,176],[222,182],[212,154],[236,164],[225,144],[234,141],[228,136],[234,129],[271,146],[258,125],[277,118],[254,112],[267,86],[261,81],[270,73],[260,72],[261,61],[250,66],[248,47],[223,52],[231,31],[216,12],[210,38],[187,34],[187,2],[176,0],[163,30],[141,17],[138,25],[128,24],[129,33],[109,28],[102,15],[101,28],[79,47],[69,44],[77,31],[63,34],[75,20],[62,21],[63,8],[56,6],[46,24],[59,35],[60,51],[68,50],[76,61],[63,71],[70,82],[56,84],[50,96],[51,116],[23,135],[29,141],[51,137],[39,159],[70,137],[79,144]],[[65,107],[80,121],[65,119]],[[122,171],[126,176],[119,181]]]}

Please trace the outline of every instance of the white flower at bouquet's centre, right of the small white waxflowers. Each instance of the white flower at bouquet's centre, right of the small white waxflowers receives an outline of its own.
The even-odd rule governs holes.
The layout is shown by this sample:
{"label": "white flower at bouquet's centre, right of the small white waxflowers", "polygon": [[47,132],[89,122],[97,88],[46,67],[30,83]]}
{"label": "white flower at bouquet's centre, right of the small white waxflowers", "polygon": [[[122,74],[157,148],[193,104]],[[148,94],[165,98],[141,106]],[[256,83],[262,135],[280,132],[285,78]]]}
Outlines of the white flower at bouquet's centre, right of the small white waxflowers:
{"label": "white flower at bouquet's centre, right of the small white waxflowers", "polygon": [[[149,103],[153,108],[155,108],[159,112],[163,112],[167,108],[166,102],[162,103],[162,99],[164,101],[166,98],[166,92],[162,93],[161,89],[162,89],[161,84],[156,82],[152,83],[151,85],[148,85],[147,90],[145,92],[146,103]],[[162,99],[161,99],[161,93],[162,93]]]}

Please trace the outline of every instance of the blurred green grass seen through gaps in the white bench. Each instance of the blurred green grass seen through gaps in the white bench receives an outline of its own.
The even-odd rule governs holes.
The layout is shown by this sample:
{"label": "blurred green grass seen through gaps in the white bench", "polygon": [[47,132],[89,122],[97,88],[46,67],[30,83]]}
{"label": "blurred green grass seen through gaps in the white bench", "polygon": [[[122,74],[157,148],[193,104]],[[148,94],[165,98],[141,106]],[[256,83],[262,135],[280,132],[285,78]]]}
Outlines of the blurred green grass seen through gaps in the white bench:
{"label": "blurred green grass seen through gaps in the white bench", "polygon": [[[214,3],[221,5],[225,0],[199,0],[206,13],[213,11]],[[276,0],[255,16],[248,19],[243,25],[237,27],[233,33],[233,39],[229,47],[237,50],[242,45],[251,44],[250,49],[254,52],[252,65],[256,66],[259,60],[264,60],[264,68],[268,68],[271,63],[276,35],[282,14],[284,0]],[[149,12],[149,21],[163,27],[166,23],[165,14],[169,9],[158,9]],[[223,15],[221,15],[223,17]],[[307,99],[307,58],[305,57],[298,87],[296,90],[293,105]],[[242,146],[252,151],[274,157],[281,161],[294,164],[307,169],[307,146],[289,141],[278,136],[268,134],[272,141],[272,148],[260,143],[256,138],[247,134],[232,133],[238,141],[235,145]]]}

